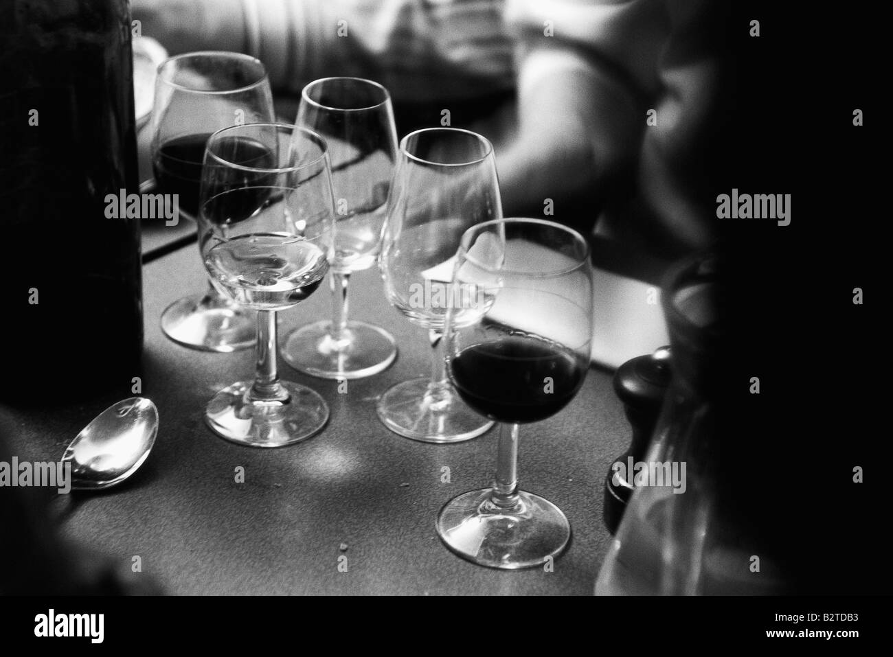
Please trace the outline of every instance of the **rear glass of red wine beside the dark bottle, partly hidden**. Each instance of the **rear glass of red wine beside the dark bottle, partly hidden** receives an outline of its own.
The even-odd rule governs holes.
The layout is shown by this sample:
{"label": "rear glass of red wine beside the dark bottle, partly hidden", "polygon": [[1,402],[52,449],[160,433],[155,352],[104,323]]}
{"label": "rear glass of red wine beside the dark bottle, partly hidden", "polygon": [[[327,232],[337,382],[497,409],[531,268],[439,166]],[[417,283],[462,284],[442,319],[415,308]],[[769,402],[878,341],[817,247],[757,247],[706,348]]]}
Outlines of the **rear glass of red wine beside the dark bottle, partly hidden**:
{"label": "rear glass of red wine beside the dark bottle, partly hidden", "polygon": [[[273,121],[270,81],[246,54],[179,54],[158,67],[152,112],[152,163],[157,191],[179,197],[180,214],[195,220],[204,146],[215,130]],[[232,352],[255,344],[255,313],[209,284],[164,309],[162,330],[179,345]]]}

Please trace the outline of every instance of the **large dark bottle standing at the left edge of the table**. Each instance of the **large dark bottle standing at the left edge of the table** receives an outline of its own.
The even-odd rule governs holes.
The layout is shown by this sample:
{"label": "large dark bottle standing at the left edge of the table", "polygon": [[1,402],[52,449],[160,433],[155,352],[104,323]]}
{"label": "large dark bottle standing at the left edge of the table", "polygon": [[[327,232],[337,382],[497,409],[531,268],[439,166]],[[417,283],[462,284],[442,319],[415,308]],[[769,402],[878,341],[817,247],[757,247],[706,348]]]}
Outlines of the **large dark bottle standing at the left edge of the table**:
{"label": "large dark bottle standing at the left edge of the table", "polygon": [[139,220],[105,212],[138,193],[130,29],[127,0],[0,4],[4,399],[138,373]]}

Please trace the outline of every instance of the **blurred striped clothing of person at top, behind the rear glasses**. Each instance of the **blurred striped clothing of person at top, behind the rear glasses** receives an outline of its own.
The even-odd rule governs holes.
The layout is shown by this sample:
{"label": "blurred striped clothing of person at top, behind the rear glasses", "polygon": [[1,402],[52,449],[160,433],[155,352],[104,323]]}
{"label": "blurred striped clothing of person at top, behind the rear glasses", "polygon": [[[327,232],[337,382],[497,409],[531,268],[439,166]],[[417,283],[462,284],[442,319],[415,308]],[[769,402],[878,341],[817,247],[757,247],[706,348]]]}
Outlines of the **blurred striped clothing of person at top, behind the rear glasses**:
{"label": "blurred striped clothing of person at top, behind the rear glasses", "polygon": [[[170,54],[260,59],[274,93],[358,77],[395,104],[463,101],[513,87],[502,0],[133,0],[133,18]],[[439,121],[439,115],[429,123]]]}

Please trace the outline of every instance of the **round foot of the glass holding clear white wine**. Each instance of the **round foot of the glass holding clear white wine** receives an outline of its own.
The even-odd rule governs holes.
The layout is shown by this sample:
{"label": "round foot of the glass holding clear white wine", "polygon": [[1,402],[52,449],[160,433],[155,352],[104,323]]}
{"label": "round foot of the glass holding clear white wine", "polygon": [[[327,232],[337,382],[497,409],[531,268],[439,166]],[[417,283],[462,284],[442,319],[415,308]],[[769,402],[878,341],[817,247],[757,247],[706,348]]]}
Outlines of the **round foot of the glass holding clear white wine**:
{"label": "round foot of the glass holding clear white wine", "polygon": [[309,387],[280,381],[288,391],[281,402],[252,401],[251,381],[223,388],[208,403],[204,421],[230,442],[251,447],[294,445],[318,434],[329,421],[329,406]]}

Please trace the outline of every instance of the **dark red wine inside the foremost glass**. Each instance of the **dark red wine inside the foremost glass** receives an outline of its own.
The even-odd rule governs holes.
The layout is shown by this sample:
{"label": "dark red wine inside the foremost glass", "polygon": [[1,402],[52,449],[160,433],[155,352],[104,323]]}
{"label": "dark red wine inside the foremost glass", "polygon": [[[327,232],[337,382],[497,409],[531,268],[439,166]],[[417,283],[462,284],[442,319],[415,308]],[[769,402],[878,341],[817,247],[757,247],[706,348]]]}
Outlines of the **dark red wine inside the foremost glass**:
{"label": "dark red wine inside the foremost glass", "polygon": [[588,362],[561,345],[530,336],[506,336],[465,347],[449,362],[463,402],[491,420],[538,422],[577,394]]}

